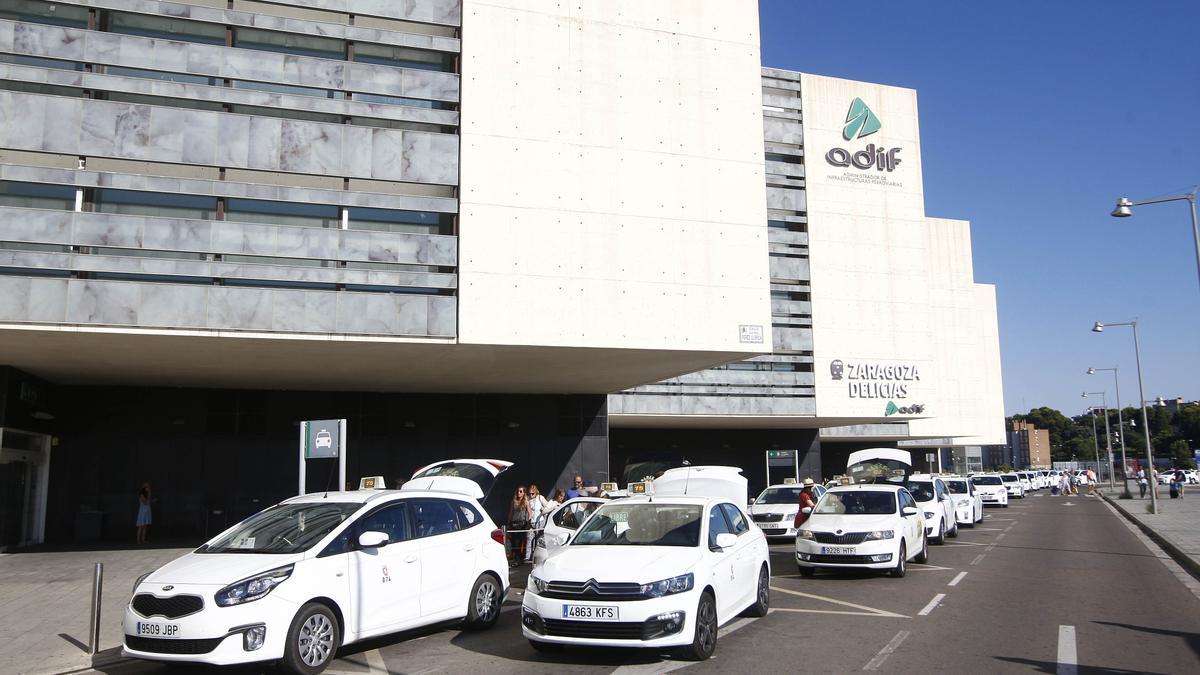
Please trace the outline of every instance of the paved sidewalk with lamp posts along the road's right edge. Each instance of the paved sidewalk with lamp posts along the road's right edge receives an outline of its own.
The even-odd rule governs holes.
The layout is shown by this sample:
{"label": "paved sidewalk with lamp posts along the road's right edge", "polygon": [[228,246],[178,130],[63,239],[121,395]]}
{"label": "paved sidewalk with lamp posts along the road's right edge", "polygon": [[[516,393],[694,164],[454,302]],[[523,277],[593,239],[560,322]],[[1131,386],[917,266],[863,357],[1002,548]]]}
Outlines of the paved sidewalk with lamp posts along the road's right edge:
{"label": "paved sidewalk with lamp posts along the road's right edge", "polygon": [[1200,578],[1200,485],[1184,489],[1184,496],[1177,500],[1170,498],[1165,486],[1159,486],[1156,515],[1151,515],[1147,510],[1150,492],[1142,500],[1138,497],[1138,486],[1133,483],[1130,486],[1132,500],[1117,498],[1121,494],[1120,488],[1112,491],[1105,486],[1103,492],[1112,506],[1132,516],[1142,530],[1148,530],[1147,534],[1157,539],[1171,557],[1182,556],[1184,560],[1177,562]]}

